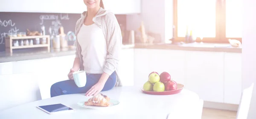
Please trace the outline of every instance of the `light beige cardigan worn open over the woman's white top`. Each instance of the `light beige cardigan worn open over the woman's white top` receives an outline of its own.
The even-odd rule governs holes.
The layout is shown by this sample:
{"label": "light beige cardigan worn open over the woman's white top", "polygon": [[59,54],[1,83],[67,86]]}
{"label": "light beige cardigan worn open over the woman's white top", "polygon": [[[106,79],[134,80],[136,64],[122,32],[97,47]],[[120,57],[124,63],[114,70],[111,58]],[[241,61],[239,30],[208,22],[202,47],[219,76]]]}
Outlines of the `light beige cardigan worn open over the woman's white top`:
{"label": "light beige cardigan worn open over the woman's white top", "polygon": [[[84,19],[86,17],[87,13],[84,11],[81,14],[81,18],[77,20],[76,22],[76,38],[77,34],[79,33],[79,30],[81,26],[84,23]],[[106,56],[106,64],[104,66],[103,71],[107,73],[108,75],[111,75],[113,72],[116,72],[117,81],[116,86],[122,86],[122,82],[120,80],[120,75],[118,72],[118,63],[119,63],[119,56],[120,51],[122,47],[122,33],[120,26],[117,22],[116,16],[103,8],[100,8],[97,12],[96,16],[93,17],[93,22],[99,26],[99,28],[102,29],[105,39],[107,42],[107,48],[108,48],[108,55]],[[81,55],[81,46],[79,42],[75,42],[76,46],[76,58],[80,59],[80,70],[83,70],[83,58]]]}

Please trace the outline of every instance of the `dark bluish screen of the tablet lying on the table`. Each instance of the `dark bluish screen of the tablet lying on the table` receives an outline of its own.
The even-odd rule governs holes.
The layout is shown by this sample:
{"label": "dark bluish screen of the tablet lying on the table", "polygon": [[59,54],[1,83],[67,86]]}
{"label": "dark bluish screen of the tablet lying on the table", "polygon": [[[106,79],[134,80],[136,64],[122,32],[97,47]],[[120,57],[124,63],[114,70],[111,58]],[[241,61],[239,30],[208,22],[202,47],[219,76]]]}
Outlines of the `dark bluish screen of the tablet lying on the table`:
{"label": "dark bluish screen of the tablet lying on the table", "polygon": [[45,111],[48,112],[58,112],[58,111],[67,111],[67,110],[73,110],[70,107],[67,107],[65,105],[62,104],[54,104],[54,105],[44,105],[44,106],[38,106],[42,109],[44,109]]}

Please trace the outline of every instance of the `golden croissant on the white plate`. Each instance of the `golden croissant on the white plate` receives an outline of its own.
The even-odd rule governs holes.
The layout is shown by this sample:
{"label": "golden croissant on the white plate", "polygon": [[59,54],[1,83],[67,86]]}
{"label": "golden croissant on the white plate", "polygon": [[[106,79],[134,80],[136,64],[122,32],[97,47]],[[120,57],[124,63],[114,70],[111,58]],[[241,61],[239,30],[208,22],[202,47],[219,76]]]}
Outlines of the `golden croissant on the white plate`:
{"label": "golden croissant on the white plate", "polygon": [[84,102],[84,105],[92,105],[92,106],[101,106],[108,107],[110,98],[104,94],[97,94],[96,96],[88,99],[87,102]]}

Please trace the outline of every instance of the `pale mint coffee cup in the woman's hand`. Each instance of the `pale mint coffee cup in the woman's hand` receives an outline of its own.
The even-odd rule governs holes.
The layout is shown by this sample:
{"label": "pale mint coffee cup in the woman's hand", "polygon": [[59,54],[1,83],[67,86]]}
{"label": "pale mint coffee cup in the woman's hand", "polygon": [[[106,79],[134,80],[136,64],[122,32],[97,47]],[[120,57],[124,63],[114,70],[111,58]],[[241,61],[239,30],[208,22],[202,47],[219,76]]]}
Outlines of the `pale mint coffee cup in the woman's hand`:
{"label": "pale mint coffee cup in the woman's hand", "polygon": [[76,86],[81,88],[86,84],[86,72],[85,71],[77,71],[73,72],[73,78],[76,83]]}

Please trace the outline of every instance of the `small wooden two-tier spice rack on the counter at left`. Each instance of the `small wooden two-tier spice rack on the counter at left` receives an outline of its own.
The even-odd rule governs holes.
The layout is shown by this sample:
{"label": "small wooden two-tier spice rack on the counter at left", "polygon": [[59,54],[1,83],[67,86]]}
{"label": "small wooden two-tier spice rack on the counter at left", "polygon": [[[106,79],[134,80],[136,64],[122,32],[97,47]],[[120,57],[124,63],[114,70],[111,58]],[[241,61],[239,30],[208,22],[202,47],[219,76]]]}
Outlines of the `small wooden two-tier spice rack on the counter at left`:
{"label": "small wooden two-tier spice rack on the counter at left", "polygon": [[[36,39],[36,38],[46,38],[47,44],[33,44],[33,45],[23,45],[23,46],[12,46],[13,40],[20,39]],[[33,48],[33,47],[47,47],[48,52],[50,52],[50,36],[20,36],[20,37],[9,37],[5,39],[6,41],[6,52],[12,53],[13,49],[23,49],[23,48]]]}

